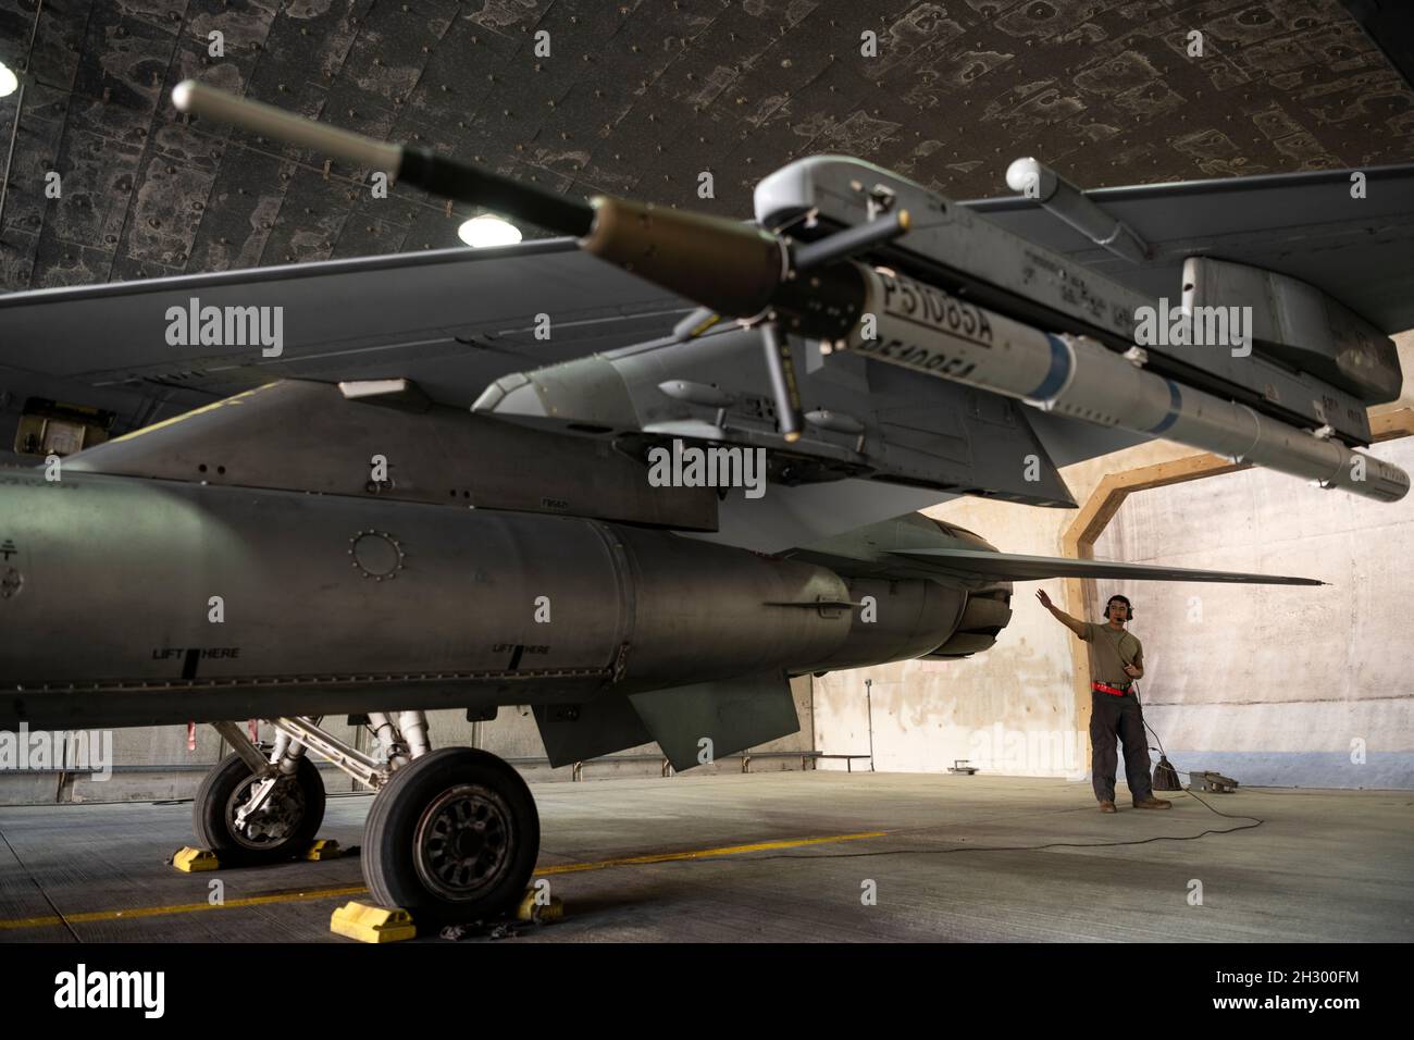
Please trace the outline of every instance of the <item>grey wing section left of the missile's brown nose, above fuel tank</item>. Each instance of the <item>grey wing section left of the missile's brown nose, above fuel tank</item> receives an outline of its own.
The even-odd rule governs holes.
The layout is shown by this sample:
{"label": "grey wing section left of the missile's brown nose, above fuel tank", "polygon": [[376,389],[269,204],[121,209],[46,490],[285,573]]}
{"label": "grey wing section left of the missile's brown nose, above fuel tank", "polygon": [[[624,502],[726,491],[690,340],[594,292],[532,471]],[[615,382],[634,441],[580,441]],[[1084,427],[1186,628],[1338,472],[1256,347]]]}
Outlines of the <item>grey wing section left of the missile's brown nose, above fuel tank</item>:
{"label": "grey wing section left of the missile's brown nose, above fuel tank", "polygon": [[[280,354],[173,345],[168,308],[192,299],[280,307]],[[501,375],[652,340],[687,310],[564,238],[41,289],[0,296],[0,379],[113,406],[115,434],[287,378],[407,378],[469,406]]]}

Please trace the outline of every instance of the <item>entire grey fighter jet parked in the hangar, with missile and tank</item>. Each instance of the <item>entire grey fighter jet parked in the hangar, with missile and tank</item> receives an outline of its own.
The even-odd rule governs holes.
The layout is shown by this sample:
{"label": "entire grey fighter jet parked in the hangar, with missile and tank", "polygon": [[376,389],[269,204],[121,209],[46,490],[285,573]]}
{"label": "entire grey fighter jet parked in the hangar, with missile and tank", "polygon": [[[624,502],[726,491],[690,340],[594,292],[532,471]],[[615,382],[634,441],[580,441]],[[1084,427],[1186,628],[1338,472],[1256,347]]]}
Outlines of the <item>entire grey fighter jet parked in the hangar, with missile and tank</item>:
{"label": "entire grey fighter jet parked in the hangar, with missile and tank", "polygon": [[737,222],[174,99],[566,238],[0,297],[0,727],[215,724],[194,826],[232,863],[308,846],[312,750],[376,790],[365,877],[420,924],[505,911],[539,850],[523,780],[433,750],[431,709],[686,770],[796,732],[792,676],[984,652],[1014,582],[1321,584],[1010,555],[921,508],[1073,508],[1058,467],[1157,436],[1408,490],[1359,449],[1414,325],[1414,167],[1356,201],[1025,160],[959,204],[817,156]]}

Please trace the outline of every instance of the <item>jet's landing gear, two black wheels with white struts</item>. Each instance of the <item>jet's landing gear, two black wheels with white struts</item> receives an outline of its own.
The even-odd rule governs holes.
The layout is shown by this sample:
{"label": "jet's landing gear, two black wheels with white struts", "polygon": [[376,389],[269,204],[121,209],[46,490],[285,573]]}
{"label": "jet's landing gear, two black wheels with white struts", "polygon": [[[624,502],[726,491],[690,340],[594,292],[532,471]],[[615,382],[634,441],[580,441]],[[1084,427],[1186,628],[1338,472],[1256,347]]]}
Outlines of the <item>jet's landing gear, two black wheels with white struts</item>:
{"label": "jet's landing gear, two black wheels with white struts", "polygon": [[235,754],[201,785],[194,824],[222,862],[271,863],[310,846],[324,821],[310,747],[378,792],[362,852],[373,903],[437,925],[496,917],[522,900],[540,852],[540,816],[508,763],[469,747],[433,751],[421,712],[369,715],[386,764],[317,719],[273,722],[280,736],[269,757],[235,723],[216,723]]}

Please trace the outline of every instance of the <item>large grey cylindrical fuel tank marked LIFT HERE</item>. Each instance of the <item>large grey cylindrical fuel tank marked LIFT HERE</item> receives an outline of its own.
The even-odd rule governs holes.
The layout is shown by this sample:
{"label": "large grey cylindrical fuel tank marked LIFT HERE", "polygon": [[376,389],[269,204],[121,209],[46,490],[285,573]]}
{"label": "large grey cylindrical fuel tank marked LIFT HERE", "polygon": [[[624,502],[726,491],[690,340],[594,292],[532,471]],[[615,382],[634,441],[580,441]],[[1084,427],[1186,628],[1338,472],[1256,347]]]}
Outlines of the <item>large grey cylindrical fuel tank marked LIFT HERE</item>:
{"label": "large grey cylindrical fuel tank marked LIFT HERE", "polygon": [[583,699],[789,669],[850,632],[813,606],[848,597],[824,567],[575,516],[33,471],[0,478],[0,724],[64,724],[98,691],[89,726],[255,717],[263,691],[281,715],[363,686]]}

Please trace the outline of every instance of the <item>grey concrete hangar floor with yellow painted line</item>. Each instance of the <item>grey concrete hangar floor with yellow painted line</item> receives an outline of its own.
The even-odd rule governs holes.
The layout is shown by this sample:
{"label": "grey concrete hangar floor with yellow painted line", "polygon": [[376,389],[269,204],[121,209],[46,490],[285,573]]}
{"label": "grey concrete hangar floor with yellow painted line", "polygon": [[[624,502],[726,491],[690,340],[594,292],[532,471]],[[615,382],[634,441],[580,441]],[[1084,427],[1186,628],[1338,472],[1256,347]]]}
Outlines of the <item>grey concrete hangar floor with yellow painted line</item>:
{"label": "grey concrete hangar floor with yellow painted line", "polygon": [[[523,925],[515,942],[1414,940],[1410,792],[1206,795],[1266,822],[1199,840],[1035,849],[1250,821],[1186,795],[1168,812],[1130,809],[1123,785],[1118,815],[1104,816],[1087,784],[986,775],[812,771],[533,790],[540,876],[566,918]],[[358,845],[369,802],[331,798],[322,836]],[[163,859],[191,843],[189,815],[189,802],[0,809],[0,942],[345,941],[328,921],[358,897],[356,859],[182,874]],[[796,843],[807,838],[834,840]],[[759,842],[783,845],[605,863]],[[993,846],[1025,850],[981,850]],[[225,886],[222,908],[209,908],[212,879]],[[1195,880],[1202,906],[1189,904]],[[865,882],[874,906],[861,901]]]}

